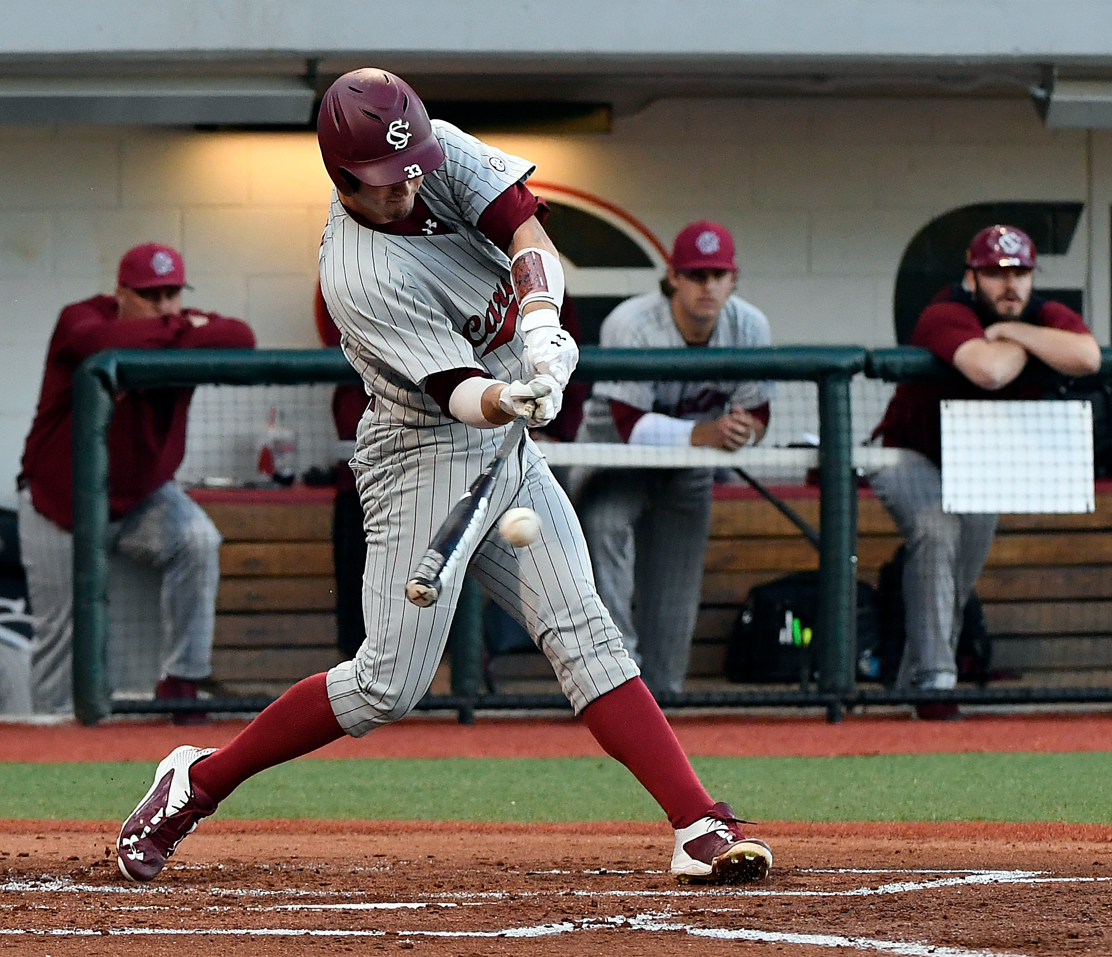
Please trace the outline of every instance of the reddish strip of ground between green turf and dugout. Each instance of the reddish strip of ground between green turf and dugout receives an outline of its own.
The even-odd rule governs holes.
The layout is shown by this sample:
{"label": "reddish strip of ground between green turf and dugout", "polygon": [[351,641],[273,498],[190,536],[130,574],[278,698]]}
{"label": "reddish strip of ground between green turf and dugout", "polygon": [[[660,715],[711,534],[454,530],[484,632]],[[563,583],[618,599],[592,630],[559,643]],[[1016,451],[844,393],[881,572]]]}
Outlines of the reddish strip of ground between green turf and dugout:
{"label": "reddish strip of ground between green turf and dugout", "polygon": [[[693,718],[669,716],[688,754],[705,757],[836,757],[962,751],[1112,750],[1112,713],[977,716],[962,721],[906,717]],[[0,761],[159,761],[178,744],[218,748],[244,721],[177,728],[161,721],[0,726]],[[569,758],[600,757],[583,722],[484,718],[470,727],[450,718],[410,717],[365,738],[344,738],[317,758]]]}

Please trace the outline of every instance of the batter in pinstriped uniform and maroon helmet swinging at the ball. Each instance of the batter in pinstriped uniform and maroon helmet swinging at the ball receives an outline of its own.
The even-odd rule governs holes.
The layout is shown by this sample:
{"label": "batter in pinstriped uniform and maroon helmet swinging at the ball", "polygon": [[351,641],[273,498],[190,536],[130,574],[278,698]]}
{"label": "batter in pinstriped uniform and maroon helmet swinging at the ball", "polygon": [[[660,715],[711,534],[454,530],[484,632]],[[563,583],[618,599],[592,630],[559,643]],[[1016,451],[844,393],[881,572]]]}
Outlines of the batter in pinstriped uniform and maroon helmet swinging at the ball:
{"label": "batter in pinstriped uniform and maroon helmet swinging at the ball", "polygon": [[[218,751],[179,748],[125,822],[121,871],[150,880],[249,776],[345,733],[404,717],[444,653],[463,566],[439,601],[406,601],[414,565],[518,415],[550,422],[578,357],[559,326],[563,272],[525,187],[526,160],[428,119],[416,92],[356,70],[318,120],[336,185],[321,288],[370,401],[353,468],[365,513],[367,635],[353,661],[296,684]],[[510,507],[540,536],[514,550],[493,531]],[[595,592],[567,497],[528,440],[497,478],[470,569],[552,662],[576,712],[664,808],[679,879],[764,877],[772,851],[746,838],[699,783]]]}

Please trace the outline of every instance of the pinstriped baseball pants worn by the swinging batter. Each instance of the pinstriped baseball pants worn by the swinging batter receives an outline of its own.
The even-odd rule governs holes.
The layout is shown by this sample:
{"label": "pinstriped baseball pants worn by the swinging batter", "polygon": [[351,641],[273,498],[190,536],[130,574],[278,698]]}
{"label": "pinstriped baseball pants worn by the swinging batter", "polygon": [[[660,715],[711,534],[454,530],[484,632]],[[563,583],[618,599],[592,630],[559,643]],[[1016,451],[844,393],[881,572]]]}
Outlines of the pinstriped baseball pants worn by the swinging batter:
{"label": "pinstriped baseball pants worn by the swinging batter", "polygon": [[[363,582],[367,637],[351,661],[328,672],[328,697],[344,730],[361,737],[407,714],[433,682],[448,640],[465,565],[444,582],[439,601],[406,600],[413,569],[451,506],[494,456],[506,428],[463,423],[383,431],[375,465],[356,462],[367,532]],[[368,453],[363,453],[364,455]],[[540,537],[510,547],[494,531],[507,509],[540,516]],[[470,558],[479,585],[525,627],[548,658],[576,713],[638,674],[622,634],[595,591],[583,532],[572,504],[533,441],[503,466],[484,535]]]}

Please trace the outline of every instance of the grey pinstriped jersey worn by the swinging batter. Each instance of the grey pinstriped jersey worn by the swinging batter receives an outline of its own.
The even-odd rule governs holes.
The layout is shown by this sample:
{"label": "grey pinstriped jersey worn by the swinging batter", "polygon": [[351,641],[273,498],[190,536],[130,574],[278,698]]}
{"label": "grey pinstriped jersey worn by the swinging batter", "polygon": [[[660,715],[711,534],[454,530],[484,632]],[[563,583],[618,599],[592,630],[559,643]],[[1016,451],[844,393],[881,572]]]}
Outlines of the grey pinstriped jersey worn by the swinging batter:
{"label": "grey pinstriped jersey worn by the swinging batter", "polygon": [[445,161],[426,174],[419,196],[440,229],[394,236],[368,229],[336,191],[320,245],[320,286],[340,347],[374,401],[370,424],[445,425],[453,420],[421,391],[434,373],[481,368],[510,382],[524,377],[524,342],[509,259],[477,228],[487,206],[536,168],[433,120]]}

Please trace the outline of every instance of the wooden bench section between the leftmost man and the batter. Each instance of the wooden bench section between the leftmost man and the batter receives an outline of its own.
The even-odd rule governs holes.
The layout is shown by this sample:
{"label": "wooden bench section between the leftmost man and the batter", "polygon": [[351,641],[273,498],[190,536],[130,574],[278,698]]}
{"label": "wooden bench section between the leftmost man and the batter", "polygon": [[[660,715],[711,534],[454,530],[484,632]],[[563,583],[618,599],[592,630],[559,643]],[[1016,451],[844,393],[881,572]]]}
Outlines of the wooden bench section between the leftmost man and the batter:
{"label": "wooden bench section between the leftmost man and the batter", "polygon": [[224,535],[212,677],[231,693],[280,693],[336,651],[334,489],[195,489]]}

